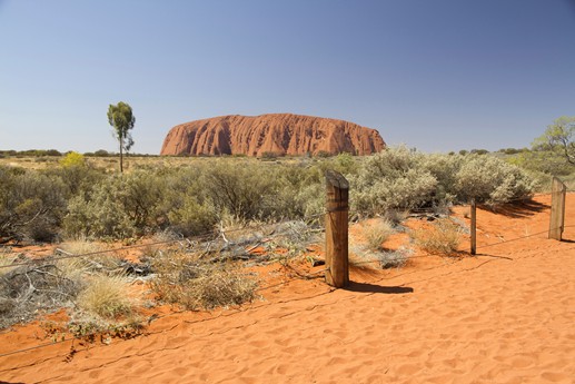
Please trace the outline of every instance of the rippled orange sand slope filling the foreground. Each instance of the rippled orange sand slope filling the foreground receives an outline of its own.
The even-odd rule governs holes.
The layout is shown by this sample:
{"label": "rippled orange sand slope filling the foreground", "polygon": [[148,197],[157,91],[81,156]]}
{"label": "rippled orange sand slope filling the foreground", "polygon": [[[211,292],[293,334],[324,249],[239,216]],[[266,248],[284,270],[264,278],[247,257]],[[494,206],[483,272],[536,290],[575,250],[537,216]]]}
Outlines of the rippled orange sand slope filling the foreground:
{"label": "rippled orange sand slope filling the foreground", "polygon": [[[476,258],[355,270],[349,289],[294,280],[251,306],[161,318],[148,336],[0,357],[0,382],[575,383],[575,228],[482,248],[545,230],[549,200],[537,201],[479,210]],[[574,213],[569,195],[567,225]]]}

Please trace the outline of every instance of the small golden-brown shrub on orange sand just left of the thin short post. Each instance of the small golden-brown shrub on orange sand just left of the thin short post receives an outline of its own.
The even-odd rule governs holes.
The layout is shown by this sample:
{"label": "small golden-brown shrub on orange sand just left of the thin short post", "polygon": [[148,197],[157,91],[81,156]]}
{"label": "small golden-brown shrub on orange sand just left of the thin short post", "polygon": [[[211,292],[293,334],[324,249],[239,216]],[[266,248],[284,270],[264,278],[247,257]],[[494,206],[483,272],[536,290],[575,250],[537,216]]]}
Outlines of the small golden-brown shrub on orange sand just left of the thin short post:
{"label": "small golden-brown shrub on orange sand just left of the thin short post", "polygon": [[430,227],[415,229],[412,236],[422,249],[438,255],[454,254],[460,240],[460,229],[448,218],[442,218]]}

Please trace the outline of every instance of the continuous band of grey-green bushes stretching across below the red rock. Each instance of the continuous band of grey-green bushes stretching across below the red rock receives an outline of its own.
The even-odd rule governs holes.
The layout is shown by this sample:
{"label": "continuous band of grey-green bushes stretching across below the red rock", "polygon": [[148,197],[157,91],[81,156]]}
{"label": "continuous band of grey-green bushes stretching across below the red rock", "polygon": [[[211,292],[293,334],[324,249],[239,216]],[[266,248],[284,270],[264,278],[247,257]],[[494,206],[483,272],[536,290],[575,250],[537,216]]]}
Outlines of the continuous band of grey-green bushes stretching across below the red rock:
{"label": "continuous band of grey-green bushes stretching across below the red rock", "polygon": [[472,197],[507,203],[538,187],[526,170],[493,156],[426,155],[406,147],[366,158],[190,158],[177,167],[143,165],[125,175],[71,155],[46,170],[0,167],[2,239],[194,236],[229,217],[306,218],[324,209],[326,169],[349,179],[351,210],[364,217]]}

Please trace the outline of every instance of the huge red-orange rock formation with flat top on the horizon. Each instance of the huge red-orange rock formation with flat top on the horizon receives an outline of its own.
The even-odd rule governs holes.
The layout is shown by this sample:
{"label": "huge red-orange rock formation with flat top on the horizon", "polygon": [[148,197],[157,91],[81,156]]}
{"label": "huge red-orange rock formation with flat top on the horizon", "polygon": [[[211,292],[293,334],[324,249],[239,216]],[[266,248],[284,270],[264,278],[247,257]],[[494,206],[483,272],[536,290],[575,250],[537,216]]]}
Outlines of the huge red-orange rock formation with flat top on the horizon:
{"label": "huge red-orange rock formation with flat top on the horizon", "polygon": [[376,129],[293,114],[220,116],[170,129],[160,155],[370,155],[385,149]]}

